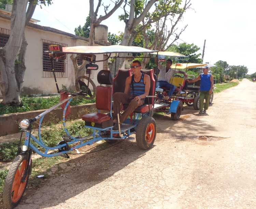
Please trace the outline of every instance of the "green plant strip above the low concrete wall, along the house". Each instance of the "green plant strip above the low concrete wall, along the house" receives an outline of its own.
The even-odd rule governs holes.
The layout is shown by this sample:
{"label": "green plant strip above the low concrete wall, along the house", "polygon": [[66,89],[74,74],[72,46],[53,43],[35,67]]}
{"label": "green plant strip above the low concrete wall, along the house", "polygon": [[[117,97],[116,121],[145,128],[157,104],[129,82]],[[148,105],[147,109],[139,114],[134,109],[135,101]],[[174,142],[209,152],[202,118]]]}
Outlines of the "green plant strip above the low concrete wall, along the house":
{"label": "green plant strip above the low concrete wall, along the house", "polygon": [[[21,106],[9,106],[0,103],[0,115],[10,114],[14,112],[26,112],[39,109],[48,109],[59,103],[59,96],[41,98],[41,97],[21,97]],[[74,98],[70,105],[82,105],[88,103],[95,103],[95,99],[86,100],[83,97]]]}

